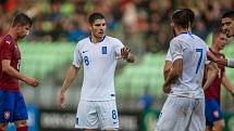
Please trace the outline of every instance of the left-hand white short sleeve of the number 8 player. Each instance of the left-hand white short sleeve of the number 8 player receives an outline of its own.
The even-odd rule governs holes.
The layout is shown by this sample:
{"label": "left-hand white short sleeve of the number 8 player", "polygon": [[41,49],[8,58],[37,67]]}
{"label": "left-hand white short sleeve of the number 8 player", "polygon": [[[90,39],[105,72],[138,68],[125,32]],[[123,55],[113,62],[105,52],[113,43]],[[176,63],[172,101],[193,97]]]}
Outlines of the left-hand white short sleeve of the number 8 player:
{"label": "left-hand white short sleeve of the number 8 player", "polygon": [[79,43],[77,43],[74,51],[73,65],[75,67],[81,67],[83,63],[82,54],[79,52],[79,47],[81,47]]}

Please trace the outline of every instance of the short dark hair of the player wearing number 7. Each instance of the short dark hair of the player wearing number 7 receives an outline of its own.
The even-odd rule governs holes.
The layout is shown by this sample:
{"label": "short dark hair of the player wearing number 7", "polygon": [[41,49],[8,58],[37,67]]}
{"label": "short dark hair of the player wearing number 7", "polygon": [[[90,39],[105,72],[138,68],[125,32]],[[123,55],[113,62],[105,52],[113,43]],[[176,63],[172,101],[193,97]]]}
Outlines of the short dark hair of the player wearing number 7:
{"label": "short dark hair of the player wearing number 7", "polygon": [[193,25],[195,14],[190,9],[178,9],[175,10],[172,15],[172,21],[175,25],[187,28]]}

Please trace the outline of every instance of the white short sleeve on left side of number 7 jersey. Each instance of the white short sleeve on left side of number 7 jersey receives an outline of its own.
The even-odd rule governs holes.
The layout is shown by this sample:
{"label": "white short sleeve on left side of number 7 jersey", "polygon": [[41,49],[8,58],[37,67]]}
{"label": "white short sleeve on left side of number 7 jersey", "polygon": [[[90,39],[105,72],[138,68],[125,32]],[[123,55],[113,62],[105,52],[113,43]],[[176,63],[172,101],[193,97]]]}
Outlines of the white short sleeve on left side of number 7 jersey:
{"label": "white short sleeve on left side of number 7 jersey", "polygon": [[172,62],[178,58],[183,58],[183,45],[178,40],[173,39],[170,43],[169,50],[172,56]]}

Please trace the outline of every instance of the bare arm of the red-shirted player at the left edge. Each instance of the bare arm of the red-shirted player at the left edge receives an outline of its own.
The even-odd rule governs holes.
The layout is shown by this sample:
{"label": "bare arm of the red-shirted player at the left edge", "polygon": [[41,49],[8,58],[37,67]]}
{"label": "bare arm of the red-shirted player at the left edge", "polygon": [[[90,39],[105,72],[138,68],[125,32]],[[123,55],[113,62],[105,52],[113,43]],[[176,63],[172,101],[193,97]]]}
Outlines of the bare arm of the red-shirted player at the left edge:
{"label": "bare arm of the red-shirted player at the left edge", "polygon": [[3,60],[2,61],[2,70],[4,73],[7,73],[8,75],[19,79],[19,80],[22,80],[22,81],[25,81],[27,84],[32,86],[32,87],[38,87],[39,86],[39,82],[37,80],[35,80],[34,78],[30,78],[30,77],[26,77],[22,74],[20,74],[16,69],[14,69],[11,65],[10,65],[11,61],[10,60]]}

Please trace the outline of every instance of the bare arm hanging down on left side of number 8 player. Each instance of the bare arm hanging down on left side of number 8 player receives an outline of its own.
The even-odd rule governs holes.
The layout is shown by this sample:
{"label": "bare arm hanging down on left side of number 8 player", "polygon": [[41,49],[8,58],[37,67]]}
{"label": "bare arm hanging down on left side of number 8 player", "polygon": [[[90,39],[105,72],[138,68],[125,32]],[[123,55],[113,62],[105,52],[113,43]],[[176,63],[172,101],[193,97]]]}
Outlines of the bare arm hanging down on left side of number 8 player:
{"label": "bare arm hanging down on left side of number 8 player", "polygon": [[66,73],[63,86],[60,89],[60,106],[65,107],[65,92],[77,76],[79,68],[72,65]]}

